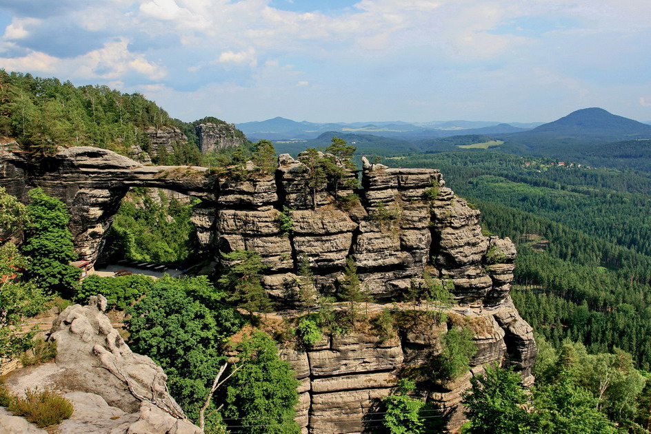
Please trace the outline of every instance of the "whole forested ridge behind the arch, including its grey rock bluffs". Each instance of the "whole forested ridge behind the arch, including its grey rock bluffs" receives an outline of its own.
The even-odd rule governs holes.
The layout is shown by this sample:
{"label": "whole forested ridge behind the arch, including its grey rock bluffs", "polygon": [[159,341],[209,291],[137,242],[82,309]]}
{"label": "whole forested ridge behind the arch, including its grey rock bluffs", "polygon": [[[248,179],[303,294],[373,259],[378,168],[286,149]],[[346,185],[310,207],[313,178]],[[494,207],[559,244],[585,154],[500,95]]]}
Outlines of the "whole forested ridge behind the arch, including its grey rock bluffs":
{"label": "whole forested ridge behind the arch, including its grey rock bluffs", "polygon": [[26,151],[50,155],[61,147],[96,146],[158,164],[208,164],[200,152],[247,143],[234,126],[212,116],[179,121],[142,94],[108,86],[0,70],[0,135]]}

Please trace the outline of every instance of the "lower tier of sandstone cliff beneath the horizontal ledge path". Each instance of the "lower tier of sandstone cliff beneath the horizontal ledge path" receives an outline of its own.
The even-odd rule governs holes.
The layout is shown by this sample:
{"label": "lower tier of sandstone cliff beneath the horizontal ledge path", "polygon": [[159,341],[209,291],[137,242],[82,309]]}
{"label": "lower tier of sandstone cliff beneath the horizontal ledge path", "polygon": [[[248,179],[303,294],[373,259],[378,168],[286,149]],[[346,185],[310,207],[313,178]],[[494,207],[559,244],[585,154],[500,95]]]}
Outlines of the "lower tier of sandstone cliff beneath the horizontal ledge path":
{"label": "lower tier of sandstone cliff beneath the horizontal ledge path", "polygon": [[403,320],[391,336],[353,332],[324,337],[306,351],[284,350],[283,358],[292,364],[301,382],[297,422],[303,431],[360,433],[378,427],[381,417],[373,415],[381,412],[381,398],[392,393],[403,371],[420,366],[436,377],[431,371],[434,368],[428,366],[436,366],[432,360],[441,352],[441,341],[452,327],[474,331],[477,353],[470,371],[452,382],[421,385],[422,399],[439,409],[434,414],[442,417],[448,428],[454,430],[465,422],[461,393],[470,387],[474,375],[483,373],[485,364],[513,365],[525,384],[530,384],[535,342],[517,311],[504,305],[449,314],[448,322],[414,315],[411,322]]}

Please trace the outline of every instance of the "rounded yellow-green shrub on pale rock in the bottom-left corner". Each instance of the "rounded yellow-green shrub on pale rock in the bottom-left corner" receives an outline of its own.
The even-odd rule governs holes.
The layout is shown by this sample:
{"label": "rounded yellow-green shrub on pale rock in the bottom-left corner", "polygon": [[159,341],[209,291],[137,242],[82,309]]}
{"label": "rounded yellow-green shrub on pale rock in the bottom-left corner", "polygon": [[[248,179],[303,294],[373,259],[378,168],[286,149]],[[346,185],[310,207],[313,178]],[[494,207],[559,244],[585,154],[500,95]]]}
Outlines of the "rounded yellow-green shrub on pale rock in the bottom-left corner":
{"label": "rounded yellow-green shrub on pale rock in the bottom-left corner", "polygon": [[39,428],[60,424],[72,416],[72,402],[53,391],[25,391],[25,397],[14,397],[9,402],[9,411],[23,416]]}

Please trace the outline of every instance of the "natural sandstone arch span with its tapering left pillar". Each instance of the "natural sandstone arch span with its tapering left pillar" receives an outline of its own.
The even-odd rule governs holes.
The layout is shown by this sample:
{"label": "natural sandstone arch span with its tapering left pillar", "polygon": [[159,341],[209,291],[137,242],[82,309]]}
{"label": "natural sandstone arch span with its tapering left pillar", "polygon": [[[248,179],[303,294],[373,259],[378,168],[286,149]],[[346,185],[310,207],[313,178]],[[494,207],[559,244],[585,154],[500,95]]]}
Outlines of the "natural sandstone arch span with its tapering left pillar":
{"label": "natural sandstone arch span with its tapering left pillar", "polygon": [[27,200],[27,191],[42,187],[70,209],[70,230],[79,258],[94,261],[103,236],[130,187],[155,187],[216,200],[214,180],[206,167],[144,166],[107,149],[71,147],[38,164],[21,152],[5,152],[0,185]]}

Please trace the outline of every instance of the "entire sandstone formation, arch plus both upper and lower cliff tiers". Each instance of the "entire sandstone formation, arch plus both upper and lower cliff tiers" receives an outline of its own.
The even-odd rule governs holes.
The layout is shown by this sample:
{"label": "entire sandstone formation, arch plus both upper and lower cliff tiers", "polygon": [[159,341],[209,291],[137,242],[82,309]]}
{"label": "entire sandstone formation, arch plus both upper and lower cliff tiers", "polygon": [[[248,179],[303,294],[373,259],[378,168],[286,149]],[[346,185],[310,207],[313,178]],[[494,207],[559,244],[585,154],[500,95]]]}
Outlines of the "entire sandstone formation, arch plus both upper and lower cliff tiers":
{"label": "entire sandstone formation, arch plus both upper and lower cliff tiers", "polygon": [[[36,167],[6,152],[0,185],[25,196],[26,184],[64,200],[82,258],[94,260],[103,232],[130,187],[159,187],[199,197],[192,220],[199,240],[219,251],[256,251],[269,266],[263,283],[277,298],[295,285],[307,258],[321,293],[337,291],[347,257],[357,264],[361,285],[377,300],[400,296],[427,270],[463,304],[455,315],[475,331],[477,355],[465,377],[426,391],[450,416],[462,420],[461,392],[483,364],[514,366],[531,382],[537,353],[531,327],[508,296],[516,251],[508,239],[481,234],[479,211],[445,187],[436,169],[390,169],[364,165],[360,200],[343,207],[326,187],[307,189],[306,165],[284,154],[272,175],[248,180],[214,178],[202,167],[143,166],[104,149],[70,148]],[[349,177],[357,174],[350,172]],[[339,197],[351,191],[338,192]],[[316,203],[316,209],[313,204]],[[288,211],[289,210],[289,211]],[[279,225],[282,213],[292,230]],[[301,380],[299,419],[311,433],[356,433],[376,399],[390,393],[394,375],[440,351],[438,342],[454,323],[389,339],[372,333],[334,336],[309,351],[287,351]]]}

